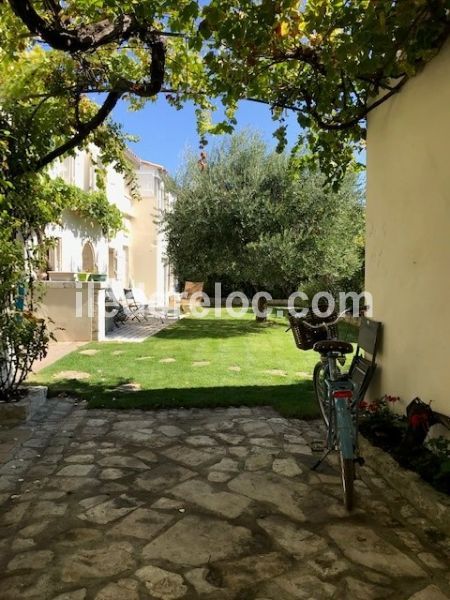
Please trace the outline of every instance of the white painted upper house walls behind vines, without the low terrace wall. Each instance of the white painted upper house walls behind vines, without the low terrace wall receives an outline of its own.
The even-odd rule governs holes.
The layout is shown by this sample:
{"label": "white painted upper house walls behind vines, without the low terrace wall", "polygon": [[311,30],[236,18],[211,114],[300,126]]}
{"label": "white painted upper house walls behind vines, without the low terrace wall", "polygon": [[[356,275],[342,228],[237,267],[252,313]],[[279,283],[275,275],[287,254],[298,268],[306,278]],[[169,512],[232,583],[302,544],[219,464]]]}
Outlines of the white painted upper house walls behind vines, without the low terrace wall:
{"label": "white painted upper house walls behind vines, without the low terrace wall", "polygon": [[[54,177],[62,177],[67,183],[77,185],[85,191],[96,189],[93,161],[98,149],[89,153],[77,151],[74,157],[57,162],[51,169]],[[63,213],[62,224],[48,228],[50,236],[61,239],[60,271],[81,272],[82,249],[91,242],[95,253],[95,268],[99,273],[108,273],[110,252],[115,252],[117,268],[116,284],[121,287],[139,287],[148,298],[160,305],[168,302],[173,293],[173,281],[166,265],[166,241],[158,231],[155,218],[158,211],[173,202],[164,189],[163,167],[142,161],[130,154],[136,166],[142,200],[131,198],[128,185],[121,173],[112,166],[107,167],[106,194],[109,201],[122,212],[125,230],[107,240],[100,228],[87,225],[70,210]]]}

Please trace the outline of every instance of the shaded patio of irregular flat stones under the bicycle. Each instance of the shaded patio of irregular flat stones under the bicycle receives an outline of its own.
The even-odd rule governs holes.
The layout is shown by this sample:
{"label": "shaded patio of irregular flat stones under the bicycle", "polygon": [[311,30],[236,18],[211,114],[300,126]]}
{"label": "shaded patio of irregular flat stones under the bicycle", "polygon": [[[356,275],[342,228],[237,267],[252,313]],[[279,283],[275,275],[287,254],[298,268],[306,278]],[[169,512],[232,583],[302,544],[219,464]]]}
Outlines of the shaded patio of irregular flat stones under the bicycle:
{"label": "shaded patio of irregular flat stones under the bicycle", "polygon": [[66,399],[40,418],[0,431],[2,600],[449,597],[450,544],[370,467],[351,516],[333,464],[309,470],[318,423]]}

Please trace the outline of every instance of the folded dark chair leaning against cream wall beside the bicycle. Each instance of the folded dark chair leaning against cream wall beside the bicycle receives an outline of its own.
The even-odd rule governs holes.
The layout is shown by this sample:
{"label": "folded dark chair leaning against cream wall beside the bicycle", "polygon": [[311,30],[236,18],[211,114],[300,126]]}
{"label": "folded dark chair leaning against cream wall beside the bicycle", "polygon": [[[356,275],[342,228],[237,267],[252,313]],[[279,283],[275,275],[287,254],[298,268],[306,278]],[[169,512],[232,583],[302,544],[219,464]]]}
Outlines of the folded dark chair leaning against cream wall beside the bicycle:
{"label": "folded dark chair leaning against cream wall beside the bicycle", "polygon": [[[358,346],[349,369],[349,377],[355,385],[358,402],[364,399],[375,373],[376,356],[380,341],[381,323],[361,317]],[[363,356],[364,352],[364,356]]]}

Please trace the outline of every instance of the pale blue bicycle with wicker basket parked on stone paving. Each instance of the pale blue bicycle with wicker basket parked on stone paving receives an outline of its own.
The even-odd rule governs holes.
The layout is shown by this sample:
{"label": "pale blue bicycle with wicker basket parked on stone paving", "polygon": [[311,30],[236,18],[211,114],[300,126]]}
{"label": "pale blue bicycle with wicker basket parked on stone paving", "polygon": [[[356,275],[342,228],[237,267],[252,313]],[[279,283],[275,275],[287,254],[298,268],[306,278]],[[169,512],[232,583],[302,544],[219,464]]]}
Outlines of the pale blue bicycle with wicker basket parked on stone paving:
{"label": "pale blue bicycle with wicker basket parked on stone paving", "polygon": [[344,504],[350,511],[354,505],[355,465],[364,464],[364,460],[358,449],[358,394],[354,393],[349,374],[340,369],[346,355],[353,353],[353,346],[337,338],[336,325],[349,312],[323,318],[310,311],[309,321],[308,317],[294,316],[289,316],[289,321],[297,346],[302,350],[312,348],[320,354],[320,361],[314,367],[313,385],[327,428],[326,453],[312,469],[317,469],[333,450],[339,452]]}

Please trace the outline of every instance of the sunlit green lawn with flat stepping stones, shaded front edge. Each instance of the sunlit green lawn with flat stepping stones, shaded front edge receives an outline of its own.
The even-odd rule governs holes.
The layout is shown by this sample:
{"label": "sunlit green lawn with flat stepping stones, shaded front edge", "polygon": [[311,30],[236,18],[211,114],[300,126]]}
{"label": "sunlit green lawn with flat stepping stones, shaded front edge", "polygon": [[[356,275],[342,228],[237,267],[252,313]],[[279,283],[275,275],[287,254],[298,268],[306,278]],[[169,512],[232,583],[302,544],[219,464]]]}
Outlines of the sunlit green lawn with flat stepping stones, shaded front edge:
{"label": "sunlit green lawn with flat stepping stones, shaded front edge", "polygon": [[[48,385],[52,395],[86,398],[90,408],[271,405],[284,416],[313,418],[318,415],[311,380],[317,355],[297,350],[285,329],[284,319],[259,325],[251,314],[230,318],[222,312],[219,319],[211,311],[203,319],[183,319],[143,343],[91,343],[80,350],[95,349],[97,354],[73,352],[33,381]],[[159,362],[165,358],[175,362]],[[209,364],[193,366],[203,361]],[[240,371],[230,371],[230,366]],[[90,377],[57,380],[61,371]],[[114,389],[130,382],[141,389]]]}

